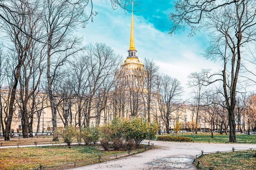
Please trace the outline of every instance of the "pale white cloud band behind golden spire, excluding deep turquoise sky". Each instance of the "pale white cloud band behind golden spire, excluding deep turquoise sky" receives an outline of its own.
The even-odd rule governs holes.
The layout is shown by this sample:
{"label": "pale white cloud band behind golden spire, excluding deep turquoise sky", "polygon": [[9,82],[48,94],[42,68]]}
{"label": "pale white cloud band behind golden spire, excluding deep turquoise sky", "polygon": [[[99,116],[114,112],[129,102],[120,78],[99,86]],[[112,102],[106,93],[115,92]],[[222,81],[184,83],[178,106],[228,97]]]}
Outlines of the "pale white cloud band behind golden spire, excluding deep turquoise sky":
{"label": "pale white cloud band behind golden spire, excluding deep turquoise sky", "polygon": [[[130,42],[130,13],[125,14],[121,9],[113,10],[111,7],[98,5],[94,8],[99,11],[94,22],[79,31],[80,35],[84,35],[84,44],[106,43],[125,59]],[[184,99],[188,95],[186,81],[190,72],[199,71],[201,68],[219,70],[219,63],[206,60],[200,54],[204,45],[200,39],[204,39],[205,35],[189,38],[184,33],[170,37],[167,32],[157,30],[152,23],[138,15],[134,16],[134,26],[135,47],[139,58],[153,59],[160,66],[161,72],[179,79],[186,91]]]}

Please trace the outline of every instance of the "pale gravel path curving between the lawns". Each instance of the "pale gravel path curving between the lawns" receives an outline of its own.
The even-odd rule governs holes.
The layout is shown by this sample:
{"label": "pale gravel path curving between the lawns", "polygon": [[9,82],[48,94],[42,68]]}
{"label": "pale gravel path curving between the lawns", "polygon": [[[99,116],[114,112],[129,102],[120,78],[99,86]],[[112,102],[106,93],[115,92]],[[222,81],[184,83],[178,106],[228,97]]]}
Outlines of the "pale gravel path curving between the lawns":
{"label": "pale gravel path curving between the lawns", "polygon": [[[153,141],[155,149],[136,155],[96,163],[72,170],[196,170],[192,164],[195,155],[204,152],[256,148],[254,144],[204,144]],[[221,168],[220,168],[221,169]]]}

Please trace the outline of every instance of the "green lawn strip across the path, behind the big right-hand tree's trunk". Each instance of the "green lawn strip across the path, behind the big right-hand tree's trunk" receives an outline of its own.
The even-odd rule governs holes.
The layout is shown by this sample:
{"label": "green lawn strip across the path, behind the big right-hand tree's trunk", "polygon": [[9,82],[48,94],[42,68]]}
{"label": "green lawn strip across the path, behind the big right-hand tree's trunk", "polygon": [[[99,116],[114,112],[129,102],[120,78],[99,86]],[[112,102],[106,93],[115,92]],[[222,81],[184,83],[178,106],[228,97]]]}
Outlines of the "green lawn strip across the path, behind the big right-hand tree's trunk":
{"label": "green lawn strip across the path, behind the big right-hand tree's trunk", "polygon": [[[175,136],[175,135],[171,135]],[[214,134],[213,139],[211,138],[211,134],[183,134],[177,135],[182,137],[190,137],[194,142],[201,143],[228,143],[229,135],[220,135]],[[237,143],[246,143],[246,144],[256,144],[256,135],[245,135],[245,134],[236,134]]]}

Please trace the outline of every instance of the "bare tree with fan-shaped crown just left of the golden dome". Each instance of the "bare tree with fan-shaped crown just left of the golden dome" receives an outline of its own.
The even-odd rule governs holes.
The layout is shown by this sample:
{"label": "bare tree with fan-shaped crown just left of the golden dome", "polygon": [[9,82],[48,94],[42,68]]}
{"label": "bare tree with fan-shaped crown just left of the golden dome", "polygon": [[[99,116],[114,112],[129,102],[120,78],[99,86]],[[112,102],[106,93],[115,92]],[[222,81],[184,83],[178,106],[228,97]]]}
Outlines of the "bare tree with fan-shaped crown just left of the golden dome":
{"label": "bare tree with fan-shaped crown just left of the golden dome", "polygon": [[91,115],[91,111],[94,109],[92,104],[99,96],[97,93],[104,92],[104,96],[102,96],[104,99],[102,100],[101,98],[104,104],[101,103],[101,106],[99,105],[101,107],[100,110],[102,111],[102,107],[106,106],[106,94],[112,87],[113,79],[120,63],[120,56],[115,54],[112,48],[101,43],[86,46],[85,56],[88,59],[87,70],[90,73],[88,77],[88,109],[85,118],[86,126],[89,126],[90,119],[98,116],[98,113],[94,116]]}

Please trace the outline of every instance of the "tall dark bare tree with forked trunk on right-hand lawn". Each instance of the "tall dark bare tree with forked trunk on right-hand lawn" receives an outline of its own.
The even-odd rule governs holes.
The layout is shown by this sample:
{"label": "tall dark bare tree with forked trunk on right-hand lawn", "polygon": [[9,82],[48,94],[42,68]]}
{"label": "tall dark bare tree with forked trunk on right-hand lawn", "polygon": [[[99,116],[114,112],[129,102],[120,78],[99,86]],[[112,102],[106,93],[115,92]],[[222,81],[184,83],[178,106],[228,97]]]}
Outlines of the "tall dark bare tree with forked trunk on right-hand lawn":
{"label": "tall dark bare tree with forked trunk on right-hand lawn", "polygon": [[[222,81],[225,108],[229,113],[229,142],[236,142],[236,92],[243,46],[255,41],[256,2],[254,0],[187,1],[179,0],[175,4],[175,13],[170,14],[173,22],[170,33],[189,25],[191,34],[202,26],[211,33],[211,46],[205,57],[223,61],[223,70],[216,81]],[[199,23],[200,25],[195,25]]]}

